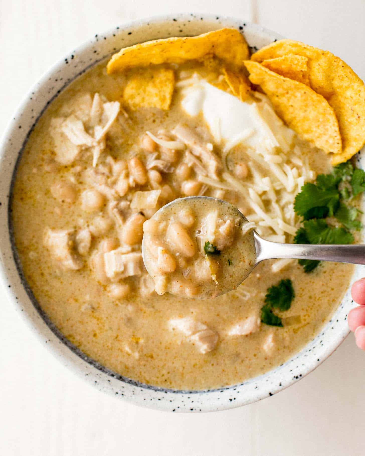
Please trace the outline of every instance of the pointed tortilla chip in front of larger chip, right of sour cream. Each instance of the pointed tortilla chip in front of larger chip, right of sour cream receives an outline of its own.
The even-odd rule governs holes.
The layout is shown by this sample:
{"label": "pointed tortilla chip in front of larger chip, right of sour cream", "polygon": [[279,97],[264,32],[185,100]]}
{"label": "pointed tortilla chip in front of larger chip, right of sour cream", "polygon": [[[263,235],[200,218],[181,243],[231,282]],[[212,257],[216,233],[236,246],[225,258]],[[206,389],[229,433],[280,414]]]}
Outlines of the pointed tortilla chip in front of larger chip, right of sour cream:
{"label": "pointed tortilla chip in front of larger chip, right of sour cream", "polygon": [[322,95],[260,63],[248,60],[245,66],[251,83],[261,87],[276,113],[292,130],[327,153],[341,152],[339,125],[334,110]]}

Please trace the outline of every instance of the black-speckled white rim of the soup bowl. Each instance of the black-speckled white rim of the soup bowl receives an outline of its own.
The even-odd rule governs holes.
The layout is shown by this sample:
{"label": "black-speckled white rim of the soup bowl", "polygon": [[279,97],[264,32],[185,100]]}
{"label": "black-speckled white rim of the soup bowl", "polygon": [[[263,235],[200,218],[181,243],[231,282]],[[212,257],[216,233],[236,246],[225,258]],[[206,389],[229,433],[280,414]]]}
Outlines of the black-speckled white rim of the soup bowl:
{"label": "black-speckled white rim of the soup bowl", "polygon": [[[215,28],[221,28],[222,26],[235,27],[244,34],[248,33],[249,35],[256,36],[259,41],[262,39],[263,41],[270,42],[268,41],[270,39],[271,41],[274,41],[282,38],[275,32],[252,24],[249,21],[241,21],[240,19],[215,16],[211,14],[192,13],[153,16],[142,21],[130,21],[107,32],[96,35],[95,38],[100,36],[105,40],[108,38],[113,39],[114,37],[119,37],[120,35],[126,36],[126,34],[130,34],[130,31],[142,31],[148,26],[167,26],[167,24],[171,26],[171,22],[177,22],[177,24],[180,24],[179,26],[181,26],[181,22],[184,21],[192,22],[192,25],[196,24],[197,28],[199,28],[198,24],[200,24],[205,28],[211,28],[211,30],[214,30],[214,28],[212,28],[213,24],[216,25]],[[176,33],[175,36],[177,35],[178,34]],[[181,34],[181,36],[186,36],[186,34]],[[145,41],[150,39],[151,38],[147,37]],[[96,42],[98,42],[98,40],[96,40]],[[328,358],[332,352],[334,352],[334,350],[349,334],[349,329],[347,323],[345,322],[342,326],[338,325],[339,330],[336,332],[336,336],[330,338],[331,341],[328,342],[327,345],[320,341],[321,338],[325,338],[324,335],[333,324],[333,318],[335,315],[340,313],[339,316],[346,320],[347,311],[351,305],[349,290],[347,290],[342,303],[334,312],[333,317],[325,326],[323,326],[322,330],[313,338],[312,341],[308,342],[308,344],[303,347],[301,351],[295,353],[292,358],[287,360],[286,363],[283,363],[282,365],[277,366],[260,376],[250,378],[238,385],[208,391],[178,391],[153,387],[151,385],[145,385],[115,374],[95,361],[90,363],[90,359],[84,355],[83,352],[78,349],[70,349],[69,344],[71,344],[71,342],[68,341],[67,343],[65,342],[67,339],[64,336],[59,336],[61,333],[57,330],[55,325],[52,325],[52,322],[49,320],[45,320],[40,307],[38,309],[36,308],[34,304],[34,301],[36,301],[35,298],[33,301],[31,300],[32,292],[29,285],[27,287],[26,282],[24,283],[24,280],[21,279],[21,275],[19,275],[20,270],[19,264],[17,264],[16,250],[13,243],[10,242],[11,223],[9,224],[8,217],[10,219],[9,193],[11,193],[11,191],[9,192],[9,190],[11,190],[12,181],[16,175],[17,164],[20,159],[22,149],[32,132],[34,125],[47,109],[48,104],[50,104],[52,100],[56,98],[70,82],[72,82],[73,79],[87,71],[89,67],[94,66],[97,62],[100,62],[105,57],[108,57],[108,55],[102,55],[100,57],[100,54],[97,54],[97,58],[94,58],[88,66],[83,66],[81,72],[75,74],[73,78],[69,78],[62,86],[59,86],[60,88],[57,87],[57,92],[54,91],[51,98],[47,98],[47,96],[42,97],[43,100],[40,100],[39,103],[42,101],[44,102],[46,99],[47,103],[42,105],[42,109],[39,110],[39,115],[37,115],[35,120],[32,120],[33,123],[31,124],[30,129],[26,131],[26,134],[23,134],[24,140],[22,141],[20,148],[13,147],[11,149],[12,138],[16,132],[19,133],[19,130],[21,130],[20,127],[19,130],[17,130],[17,123],[19,122],[19,119],[22,118],[23,114],[29,110],[31,105],[30,100],[32,100],[33,96],[36,93],[45,90],[53,75],[57,75],[57,73],[63,74],[65,63],[68,64],[68,62],[71,62],[74,56],[83,55],[83,53],[87,54],[93,46],[95,46],[95,39],[83,42],[83,44],[76,47],[73,52],[68,53],[66,57],[58,61],[42,75],[39,81],[33,86],[33,88],[31,88],[26,97],[21,101],[20,105],[16,109],[13,119],[10,120],[0,141],[0,177],[3,175],[8,176],[7,179],[0,180],[0,204],[3,202],[0,206],[0,214],[5,216],[2,217],[5,218],[5,222],[2,220],[0,224],[0,233],[3,234],[2,236],[0,235],[0,255],[2,259],[0,262],[0,277],[1,282],[5,285],[5,293],[8,301],[11,301],[15,305],[16,309],[20,311],[23,320],[26,321],[33,334],[36,334],[37,339],[42,342],[42,344],[46,346],[48,350],[63,363],[63,365],[73,370],[73,372],[79,377],[88,380],[89,383],[93,384],[99,390],[118,396],[121,399],[129,400],[137,405],[179,412],[215,411],[249,404],[287,388],[308,373],[312,372],[314,368],[316,368],[326,358]],[[50,92],[48,92],[48,94],[49,93]],[[8,149],[11,150],[9,151]],[[6,159],[11,155],[14,155],[12,157],[15,159],[14,163],[6,161]],[[359,164],[362,165],[360,155],[357,160]],[[9,181],[9,176],[10,187],[6,187],[6,182]],[[9,246],[12,253],[10,252]],[[357,267],[356,270],[358,272],[355,273],[355,276],[360,278],[363,274],[363,272],[360,274],[361,269],[364,271],[364,268]],[[342,310],[342,312],[339,312],[340,310]],[[339,319],[337,319],[337,322],[339,322]],[[57,334],[57,332],[59,334]],[[313,344],[313,348],[309,348],[312,347]],[[315,359],[315,357],[311,355],[312,359],[308,360],[307,364],[302,363],[302,365],[299,366],[300,363],[298,360],[301,360],[303,357],[309,358],[308,351],[314,352],[315,349],[316,352],[318,352],[318,357]],[[298,365],[296,366],[296,364]],[[292,369],[290,370],[288,367],[292,367]],[[295,375],[289,375],[289,373],[293,372],[293,370],[295,370]],[[271,381],[269,381],[269,377],[272,376],[274,376],[275,379],[271,379]]]}

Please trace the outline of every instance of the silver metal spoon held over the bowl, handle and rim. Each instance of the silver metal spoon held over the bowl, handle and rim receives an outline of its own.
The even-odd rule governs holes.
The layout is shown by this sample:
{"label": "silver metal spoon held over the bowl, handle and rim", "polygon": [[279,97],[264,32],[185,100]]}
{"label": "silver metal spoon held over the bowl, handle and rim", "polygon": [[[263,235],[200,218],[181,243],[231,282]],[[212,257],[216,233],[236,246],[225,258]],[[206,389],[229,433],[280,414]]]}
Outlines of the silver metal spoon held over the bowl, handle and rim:
{"label": "silver metal spoon held over the bowl, handle and rim", "polygon": [[[157,218],[157,214],[161,216],[163,211],[167,207],[172,208],[173,205],[176,205],[179,202],[180,209],[181,203],[186,201],[187,207],[192,200],[198,201],[199,199],[210,199],[217,202],[217,207],[219,205],[220,209],[223,207],[227,208],[227,214],[232,214],[232,208],[234,208],[238,217],[242,219],[242,223],[248,223],[247,218],[237,209],[228,202],[219,200],[212,197],[186,197],[178,198],[167,205],[163,206],[156,214],[152,217]],[[222,211],[221,211],[222,212]],[[221,215],[224,215],[221,213]],[[237,288],[247,277],[250,275],[255,266],[261,261],[266,259],[278,259],[278,258],[292,258],[292,259],[309,259],[309,260],[321,260],[321,261],[336,261],[339,263],[353,263],[353,264],[365,264],[365,245],[347,245],[347,244],[281,244],[278,242],[266,241],[261,238],[256,231],[252,231],[251,236],[254,238],[255,245],[255,262],[252,265],[252,268],[247,271],[242,271],[243,274],[239,276],[237,284],[232,287],[220,288],[219,292],[215,296],[223,295],[228,291]],[[146,264],[146,255],[145,255],[145,243],[142,242],[142,257],[145,263],[147,271],[149,270],[149,265]],[[186,297],[182,294],[182,296]],[[196,295],[195,299],[206,299],[206,295]]]}

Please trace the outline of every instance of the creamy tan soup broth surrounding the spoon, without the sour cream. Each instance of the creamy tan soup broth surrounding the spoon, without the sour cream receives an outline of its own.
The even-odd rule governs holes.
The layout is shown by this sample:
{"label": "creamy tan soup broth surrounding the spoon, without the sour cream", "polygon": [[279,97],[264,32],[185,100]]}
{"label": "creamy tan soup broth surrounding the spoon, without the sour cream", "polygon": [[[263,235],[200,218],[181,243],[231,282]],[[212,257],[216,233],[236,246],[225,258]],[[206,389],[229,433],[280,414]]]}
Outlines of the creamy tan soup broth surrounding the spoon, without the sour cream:
{"label": "creamy tan soup broth surrounding the spoon, without the sour cream", "polygon": [[[177,81],[193,72],[200,78],[219,80],[214,68],[198,62],[173,68]],[[238,145],[224,155],[224,144],[209,130],[203,114],[189,116],[182,108],[185,86],[175,90],[168,111],[125,107],[126,112],[120,111],[107,131],[104,145],[76,146],[80,150],[74,151],[76,158],[71,163],[62,164],[59,157],[57,161],[55,134],[50,134],[57,125],[52,119],[64,121],[74,115],[91,135],[95,125],[90,103],[95,93],[102,103],[120,101],[130,73],[107,76],[105,63],[99,64],[71,83],[37,122],[19,163],[12,200],[14,237],[24,275],[57,328],[89,357],[116,373],[172,389],[240,383],[283,363],[315,336],[343,297],[353,266],[321,264],[305,274],[295,260],[274,269],[277,260],[266,261],[237,290],[215,299],[157,295],[139,256],[142,225],[177,197],[218,197],[239,207],[263,237],[291,242],[292,234],[279,229],[277,234],[265,224],[259,225],[255,204],[265,205],[268,211],[269,200],[257,201],[250,192],[249,205],[243,190],[236,192],[232,181],[222,178],[225,172],[235,181],[250,183],[255,172],[265,177],[267,170],[259,161],[248,166],[253,162],[252,148]],[[108,122],[107,107],[103,112],[106,119],[100,120],[99,115],[98,120],[101,129]],[[185,149],[161,150],[145,136],[150,131],[164,140],[182,141],[186,131],[172,133],[182,122],[217,157],[216,178],[224,182],[222,188],[206,183],[214,177],[211,172],[199,174],[199,166],[208,166],[206,157],[193,155],[195,162],[189,162],[188,138]],[[77,129],[77,125],[71,127]],[[312,172],[303,180],[329,171],[328,157],[322,151],[296,136],[292,141],[287,156],[295,155],[296,166],[306,163]],[[160,163],[151,167],[151,157]],[[199,176],[203,176],[201,181]],[[131,208],[135,192],[156,189],[161,192],[155,207]],[[297,191],[292,189],[291,194],[295,196]],[[289,198],[284,210],[290,212],[290,204]],[[297,226],[293,214],[288,213],[286,220]],[[128,264],[121,266],[125,254],[131,256],[123,257]],[[107,273],[100,261],[108,262]],[[291,279],[295,290],[292,306],[285,312],[289,323],[284,322],[283,327],[260,324],[266,290],[281,279]],[[292,316],[296,317],[294,323],[290,323]],[[237,325],[245,326],[243,334],[237,334]]]}

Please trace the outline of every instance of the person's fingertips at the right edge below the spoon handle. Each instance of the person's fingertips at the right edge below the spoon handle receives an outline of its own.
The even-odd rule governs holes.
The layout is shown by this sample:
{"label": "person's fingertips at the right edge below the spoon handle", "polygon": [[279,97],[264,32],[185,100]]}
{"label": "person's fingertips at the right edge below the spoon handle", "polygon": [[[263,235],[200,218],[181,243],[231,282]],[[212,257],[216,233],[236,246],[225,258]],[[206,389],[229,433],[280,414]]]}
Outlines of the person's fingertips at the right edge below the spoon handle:
{"label": "person's fingertips at the right edge below the spoon handle", "polygon": [[365,278],[357,280],[352,285],[351,295],[360,306],[349,311],[347,321],[350,330],[355,332],[356,345],[365,350]]}

